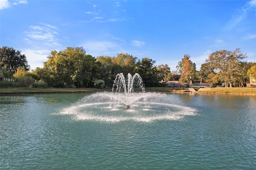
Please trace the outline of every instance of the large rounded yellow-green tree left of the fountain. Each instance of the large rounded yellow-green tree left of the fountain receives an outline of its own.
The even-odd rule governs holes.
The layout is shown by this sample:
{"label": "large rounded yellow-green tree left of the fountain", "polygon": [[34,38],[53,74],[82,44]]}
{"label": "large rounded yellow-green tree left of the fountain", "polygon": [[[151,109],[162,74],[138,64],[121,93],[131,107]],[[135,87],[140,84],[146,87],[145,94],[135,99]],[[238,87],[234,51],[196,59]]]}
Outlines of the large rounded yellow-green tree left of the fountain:
{"label": "large rounded yellow-green tree left of the fountain", "polygon": [[82,47],[67,47],[64,51],[52,51],[40,70],[42,79],[53,87],[90,87],[96,59],[86,55]]}

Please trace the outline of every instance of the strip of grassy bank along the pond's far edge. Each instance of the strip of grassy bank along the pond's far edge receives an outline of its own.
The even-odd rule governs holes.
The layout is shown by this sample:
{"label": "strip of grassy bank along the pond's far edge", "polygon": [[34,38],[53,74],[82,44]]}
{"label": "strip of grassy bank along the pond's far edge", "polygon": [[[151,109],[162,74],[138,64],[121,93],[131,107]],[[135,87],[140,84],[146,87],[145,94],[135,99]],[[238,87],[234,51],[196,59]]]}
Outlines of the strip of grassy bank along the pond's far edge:
{"label": "strip of grassy bank along the pond's far edge", "polygon": [[[146,88],[146,91],[151,92],[187,92],[181,88]],[[8,94],[45,94],[45,93],[86,93],[86,92],[111,92],[111,88],[0,88],[0,95]],[[256,88],[210,88],[208,90],[196,92],[196,94],[255,94]]]}

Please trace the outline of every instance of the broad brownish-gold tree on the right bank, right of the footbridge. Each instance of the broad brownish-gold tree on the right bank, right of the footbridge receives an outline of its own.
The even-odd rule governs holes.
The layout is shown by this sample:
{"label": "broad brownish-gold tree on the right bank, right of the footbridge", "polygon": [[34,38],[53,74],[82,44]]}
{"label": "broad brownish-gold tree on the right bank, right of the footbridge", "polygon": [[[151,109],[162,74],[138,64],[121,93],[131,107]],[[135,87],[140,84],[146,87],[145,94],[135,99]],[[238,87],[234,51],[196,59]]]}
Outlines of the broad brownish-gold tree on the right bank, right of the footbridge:
{"label": "broad brownish-gold tree on the right bank, right of the footbridge", "polygon": [[225,87],[232,87],[232,83],[237,81],[241,70],[242,59],[246,58],[246,54],[240,52],[240,49],[234,51],[220,50],[209,55],[206,63],[214,72],[219,74],[222,82],[225,82]]}

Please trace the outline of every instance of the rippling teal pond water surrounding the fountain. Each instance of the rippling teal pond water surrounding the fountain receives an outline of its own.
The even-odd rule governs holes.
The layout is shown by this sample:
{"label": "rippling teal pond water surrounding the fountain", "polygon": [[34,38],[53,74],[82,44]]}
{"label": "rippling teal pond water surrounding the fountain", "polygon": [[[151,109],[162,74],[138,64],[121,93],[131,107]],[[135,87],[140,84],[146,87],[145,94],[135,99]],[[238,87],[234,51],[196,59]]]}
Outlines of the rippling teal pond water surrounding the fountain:
{"label": "rippling teal pond water surrounding the fountain", "polygon": [[140,110],[93,95],[1,96],[0,169],[256,169],[256,96],[158,93]]}

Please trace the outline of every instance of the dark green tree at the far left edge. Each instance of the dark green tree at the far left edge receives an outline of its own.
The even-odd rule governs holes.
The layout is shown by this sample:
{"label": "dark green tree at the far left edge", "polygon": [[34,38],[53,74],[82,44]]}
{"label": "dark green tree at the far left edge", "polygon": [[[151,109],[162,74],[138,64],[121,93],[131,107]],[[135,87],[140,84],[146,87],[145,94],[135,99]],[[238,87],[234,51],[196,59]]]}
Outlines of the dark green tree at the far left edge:
{"label": "dark green tree at the far left edge", "polygon": [[30,69],[26,56],[22,55],[21,51],[16,51],[12,47],[0,47],[0,68],[6,78],[11,78],[20,66],[27,71]]}

